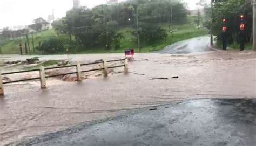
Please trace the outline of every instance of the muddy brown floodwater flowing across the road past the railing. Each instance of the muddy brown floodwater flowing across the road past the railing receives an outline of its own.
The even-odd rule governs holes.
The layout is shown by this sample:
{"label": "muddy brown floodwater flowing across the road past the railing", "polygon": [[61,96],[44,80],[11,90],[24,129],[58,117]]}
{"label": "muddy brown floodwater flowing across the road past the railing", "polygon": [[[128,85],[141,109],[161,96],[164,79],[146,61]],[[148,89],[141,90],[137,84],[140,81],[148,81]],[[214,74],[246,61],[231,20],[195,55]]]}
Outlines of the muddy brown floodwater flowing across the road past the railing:
{"label": "muddy brown floodwater flowing across the road past the railing", "polygon": [[[65,55],[39,56],[39,59],[65,58]],[[70,60],[81,62],[117,58],[124,58],[124,54],[69,56]],[[38,81],[4,85],[5,96],[0,98],[0,145],[173,100],[256,98],[256,52],[253,51],[139,53],[129,62],[129,71],[129,75],[116,73],[82,82],[50,79],[44,90]],[[9,70],[5,68],[3,72]],[[170,79],[174,76],[179,78]],[[169,80],[150,80],[162,77]]]}

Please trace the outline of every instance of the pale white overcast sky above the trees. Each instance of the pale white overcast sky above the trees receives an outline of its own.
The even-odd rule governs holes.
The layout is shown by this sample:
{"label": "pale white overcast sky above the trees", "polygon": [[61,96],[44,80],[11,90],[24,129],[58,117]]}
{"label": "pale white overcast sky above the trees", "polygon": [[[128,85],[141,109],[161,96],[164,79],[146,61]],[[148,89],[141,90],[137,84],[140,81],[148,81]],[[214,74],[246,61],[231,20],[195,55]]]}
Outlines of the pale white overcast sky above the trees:
{"label": "pale white overcast sky above the trees", "polygon": [[[192,8],[198,0],[185,0]],[[104,4],[106,0],[80,0],[81,5],[92,8]],[[33,19],[47,16],[54,9],[55,18],[65,16],[73,7],[73,0],[0,0],[0,28],[5,26],[28,25]]]}

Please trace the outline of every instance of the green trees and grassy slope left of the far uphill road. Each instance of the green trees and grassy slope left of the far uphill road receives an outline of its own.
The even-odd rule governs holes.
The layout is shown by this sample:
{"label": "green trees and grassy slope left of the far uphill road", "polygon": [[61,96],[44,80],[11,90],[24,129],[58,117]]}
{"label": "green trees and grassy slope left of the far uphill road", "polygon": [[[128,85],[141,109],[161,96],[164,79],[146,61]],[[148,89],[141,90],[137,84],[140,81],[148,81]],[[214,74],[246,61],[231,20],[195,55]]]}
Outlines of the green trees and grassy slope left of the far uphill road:
{"label": "green trees and grassy slope left of the far uphill road", "polygon": [[[172,13],[172,17],[170,16]],[[138,17],[138,26],[137,26]],[[208,34],[201,15],[190,15],[178,1],[130,0],[122,3],[98,5],[92,9],[82,6],[66,12],[66,17],[52,23],[53,29],[40,30],[44,22],[34,20],[36,32],[28,39],[22,32],[0,39],[2,54],[19,53],[19,43],[29,42],[31,54],[104,53],[123,52],[134,48],[136,52],[158,51],[180,40]],[[199,19],[200,18],[200,19]],[[140,48],[138,48],[138,33]],[[12,36],[12,37],[11,37]]]}

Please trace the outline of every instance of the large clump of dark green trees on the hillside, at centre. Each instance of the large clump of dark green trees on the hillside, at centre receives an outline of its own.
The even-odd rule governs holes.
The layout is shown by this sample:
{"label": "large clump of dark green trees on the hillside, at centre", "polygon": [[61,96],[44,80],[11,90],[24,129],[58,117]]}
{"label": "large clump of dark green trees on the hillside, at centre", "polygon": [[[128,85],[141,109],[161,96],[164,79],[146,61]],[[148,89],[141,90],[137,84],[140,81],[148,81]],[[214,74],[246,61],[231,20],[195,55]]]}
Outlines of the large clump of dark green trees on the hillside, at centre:
{"label": "large clump of dark green trees on the hillside, at centre", "polygon": [[167,37],[160,23],[183,23],[187,13],[185,6],[177,1],[130,0],[97,5],[92,9],[86,6],[73,8],[52,26],[57,34],[70,36],[69,47],[118,49],[124,39],[118,32],[120,28],[131,28],[134,43],[138,43],[139,36],[142,44],[153,44]]}

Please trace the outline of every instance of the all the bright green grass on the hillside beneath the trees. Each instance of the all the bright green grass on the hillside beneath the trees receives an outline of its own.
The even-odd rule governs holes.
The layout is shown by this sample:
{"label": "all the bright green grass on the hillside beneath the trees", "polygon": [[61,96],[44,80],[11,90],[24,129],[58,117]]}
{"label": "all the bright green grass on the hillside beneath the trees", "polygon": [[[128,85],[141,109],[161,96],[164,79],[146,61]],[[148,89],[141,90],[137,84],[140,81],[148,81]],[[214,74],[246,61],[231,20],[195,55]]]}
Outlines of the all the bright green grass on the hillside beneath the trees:
{"label": "all the bright green grass on the hillside beneath the trees", "polygon": [[[159,40],[153,45],[146,45],[142,43],[141,44],[142,52],[161,50],[166,45],[175,43],[177,41],[198,37],[198,36],[203,36],[208,33],[207,29],[205,28],[196,29],[196,24],[194,23],[179,24],[179,25],[174,24],[171,26],[170,30],[177,29],[178,31],[173,33],[169,32],[168,24],[161,24],[161,27],[163,27],[168,33],[166,40]],[[135,38],[130,33],[131,30],[132,30],[131,28],[122,28],[119,30],[119,32],[123,33],[123,36],[125,37],[125,39],[122,39],[120,49],[118,50],[115,50],[112,45],[112,48],[107,51],[105,50],[105,48],[89,48],[86,50],[84,50],[83,48],[76,48],[74,52],[75,53],[104,53],[104,52],[117,53],[117,52],[123,52],[125,48],[134,48],[135,51],[138,52],[138,45],[136,43]],[[43,41],[50,36],[57,36],[57,33],[53,29],[35,33],[33,35],[35,47],[38,46],[38,42],[43,43]],[[69,36],[65,34],[61,34],[59,37],[62,37],[65,39],[69,38]],[[19,53],[19,43],[23,44],[23,52],[25,52],[25,47],[24,47],[25,42],[26,42],[26,38],[23,38],[23,37],[14,39],[14,40],[12,39],[0,40],[0,47],[2,48],[2,54]],[[29,35],[29,42],[30,42],[31,53],[32,54],[40,53],[38,50],[35,50],[35,53],[33,52],[31,34]],[[72,49],[73,48],[70,48],[71,52],[73,52]]]}

